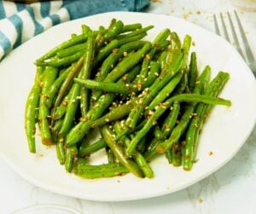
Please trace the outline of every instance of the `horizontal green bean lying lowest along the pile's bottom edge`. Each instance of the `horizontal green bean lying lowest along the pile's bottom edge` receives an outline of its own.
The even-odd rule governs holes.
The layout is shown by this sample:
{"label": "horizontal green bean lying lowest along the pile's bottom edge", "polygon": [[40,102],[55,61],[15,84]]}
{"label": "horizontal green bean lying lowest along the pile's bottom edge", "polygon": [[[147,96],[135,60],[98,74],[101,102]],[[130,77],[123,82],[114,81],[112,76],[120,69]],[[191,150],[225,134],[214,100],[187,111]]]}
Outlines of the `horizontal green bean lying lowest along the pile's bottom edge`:
{"label": "horizontal green bean lying lowest along the pile's bottom edge", "polygon": [[129,171],[123,165],[119,164],[105,164],[105,165],[84,165],[76,167],[74,173],[83,178],[102,178],[111,176],[122,176]]}

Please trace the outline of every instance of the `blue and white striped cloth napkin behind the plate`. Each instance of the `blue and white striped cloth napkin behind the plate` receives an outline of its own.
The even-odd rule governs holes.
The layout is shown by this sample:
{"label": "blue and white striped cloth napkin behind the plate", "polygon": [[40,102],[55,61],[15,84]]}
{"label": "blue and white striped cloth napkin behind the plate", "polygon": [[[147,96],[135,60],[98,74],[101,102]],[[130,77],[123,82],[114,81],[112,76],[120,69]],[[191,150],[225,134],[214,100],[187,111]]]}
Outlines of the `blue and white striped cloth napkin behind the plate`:
{"label": "blue and white striped cloth napkin behind the plate", "polygon": [[0,61],[11,49],[64,21],[109,11],[141,11],[150,4],[150,0],[19,2],[0,0]]}

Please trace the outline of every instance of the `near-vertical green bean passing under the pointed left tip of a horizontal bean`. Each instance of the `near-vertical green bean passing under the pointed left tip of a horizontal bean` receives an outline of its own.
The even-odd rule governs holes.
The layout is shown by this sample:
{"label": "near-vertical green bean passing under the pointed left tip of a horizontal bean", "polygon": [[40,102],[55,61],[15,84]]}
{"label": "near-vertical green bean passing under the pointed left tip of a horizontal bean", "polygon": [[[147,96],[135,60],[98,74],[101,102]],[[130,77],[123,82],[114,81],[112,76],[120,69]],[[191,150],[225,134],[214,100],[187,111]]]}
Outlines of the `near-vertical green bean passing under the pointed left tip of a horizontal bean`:
{"label": "near-vertical green bean passing under the pointed left tip of a horizontal bean", "polygon": [[[95,51],[95,40],[93,38],[93,35],[89,34],[86,42],[85,53],[84,53],[84,65],[81,69],[82,79],[90,78],[92,61],[95,55],[94,51]],[[81,95],[80,108],[81,108],[82,116],[84,116],[89,110],[90,102],[89,102],[89,91],[83,85],[80,88],[80,95]]]}

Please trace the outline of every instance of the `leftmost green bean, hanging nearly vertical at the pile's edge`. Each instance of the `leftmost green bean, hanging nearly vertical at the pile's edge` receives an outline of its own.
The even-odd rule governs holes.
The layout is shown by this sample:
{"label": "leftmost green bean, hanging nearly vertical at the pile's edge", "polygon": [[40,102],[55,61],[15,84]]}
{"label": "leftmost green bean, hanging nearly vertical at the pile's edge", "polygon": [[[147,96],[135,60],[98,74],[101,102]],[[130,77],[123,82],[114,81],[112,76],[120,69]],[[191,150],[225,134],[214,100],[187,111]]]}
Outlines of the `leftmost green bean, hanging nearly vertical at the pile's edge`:
{"label": "leftmost green bean, hanging nearly vertical at the pile's edge", "polygon": [[41,82],[43,76],[44,68],[37,68],[37,75],[35,78],[35,83],[30,90],[25,107],[25,130],[26,139],[28,143],[28,148],[31,153],[36,153],[36,142],[35,142],[35,132],[36,132],[36,113],[40,99],[41,93]]}

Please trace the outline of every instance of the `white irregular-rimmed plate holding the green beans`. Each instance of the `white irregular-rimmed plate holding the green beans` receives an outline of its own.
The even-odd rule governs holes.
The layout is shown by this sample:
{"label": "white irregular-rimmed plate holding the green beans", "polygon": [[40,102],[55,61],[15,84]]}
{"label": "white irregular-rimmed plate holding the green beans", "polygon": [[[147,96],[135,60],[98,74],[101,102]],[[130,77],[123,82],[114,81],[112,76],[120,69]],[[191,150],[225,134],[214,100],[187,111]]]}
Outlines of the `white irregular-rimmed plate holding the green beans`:
{"label": "white irregular-rimmed plate holding the green beans", "polygon": [[[152,162],[154,179],[138,179],[131,174],[113,178],[84,180],[68,174],[55,157],[55,147],[45,148],[38,142],[38,153],[29,153],[24,131],[24,107],[40,55],[80,32],[81,25],[93,28],[108,26],[112,18],[125,23],[154,25],[148,39],[169,27],[183,38],[186,33],[195,41],[200,70],[207,64],[212,77],[219,70],[230,72],[230,81],[221,96],[232,101],[232,107],[215,107],[201,135],[200,147],[192,171],[166,164],[161,157]],[[0,63],[0,153],[20,176],[38,187],[85,200],[121,201],[145,199],[170,194],[200,181],[227,163],[247,140],[256,120],[256,83],[253,73],[236,50],[222,38],[199,26],[167,15],[141,13],[97,14],[73,20],[49,29],[15,49]],[[212,152],[212,155],[209,155]],[[97,156],[100,156],[98,153]]]}

